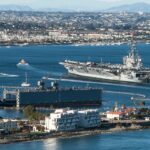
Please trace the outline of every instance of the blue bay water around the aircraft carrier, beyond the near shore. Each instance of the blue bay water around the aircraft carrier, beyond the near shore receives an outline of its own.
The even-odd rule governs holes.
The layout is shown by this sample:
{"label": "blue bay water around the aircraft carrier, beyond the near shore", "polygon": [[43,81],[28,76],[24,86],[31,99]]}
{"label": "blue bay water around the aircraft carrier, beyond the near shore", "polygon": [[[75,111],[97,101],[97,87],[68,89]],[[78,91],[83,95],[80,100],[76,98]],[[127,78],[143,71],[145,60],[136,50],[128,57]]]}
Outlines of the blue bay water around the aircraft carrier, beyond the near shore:
{"label": "blue bay water around the aircraft carrier, beyond the near shore", "polygon": [[[138,44],[137,49],[143,58],[143,64],[150,66],[150,45]],[[78,61],[96,61],[101,59],[104,62],[122,63],[122,57],[129,52],[128,45],[121,46],[25,46],[10,48],[0,48],[0,72],[6,74],[18,75],[19,77],[1,77],[0,85],[20,85],[25,79],[25,72],[28,73],[29,82],[33,86],[36,85],[37,80],[43,76],[49,75],[52,78],[60,79],[67,75],[67,71],[63,66],[59,65],[60,61],[65,59],[78,60]],[[16,64],[20,59],[25,59],[30,66],[18,68]],[[69,80],[70,81],[70,80]],[[46,83],[50,85],[50,81]],[[106,82],[60,82],[61,86],[93,86],[102,87],[104,90],[121,91],[122,93],[105,93],[103,94],[103,109],[109,109],[114,101],[119,103],[126,103],[133,105],[130,100],[134,94],[144,94],[147,98],[150,97],[150,85],[122,85],[110,84]],[[123,93],[125,92],[125,93]],[[130,94],[127,94],[130,93]],[[150,102],[147,101],[147,105]]]}

